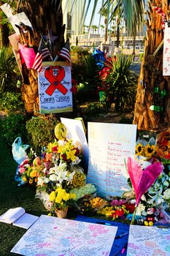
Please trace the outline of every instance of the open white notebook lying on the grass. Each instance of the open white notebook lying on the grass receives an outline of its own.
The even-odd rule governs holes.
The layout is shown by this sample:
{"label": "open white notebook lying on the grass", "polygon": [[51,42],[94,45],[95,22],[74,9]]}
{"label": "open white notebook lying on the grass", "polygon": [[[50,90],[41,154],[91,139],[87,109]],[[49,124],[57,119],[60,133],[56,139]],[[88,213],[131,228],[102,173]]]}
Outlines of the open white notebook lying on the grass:
{"label": "open white notebook lying on the grass", "polygon": [[11,208],[0,216],[0,222],[28,229],[39,217],[27,214],[22,207]]}

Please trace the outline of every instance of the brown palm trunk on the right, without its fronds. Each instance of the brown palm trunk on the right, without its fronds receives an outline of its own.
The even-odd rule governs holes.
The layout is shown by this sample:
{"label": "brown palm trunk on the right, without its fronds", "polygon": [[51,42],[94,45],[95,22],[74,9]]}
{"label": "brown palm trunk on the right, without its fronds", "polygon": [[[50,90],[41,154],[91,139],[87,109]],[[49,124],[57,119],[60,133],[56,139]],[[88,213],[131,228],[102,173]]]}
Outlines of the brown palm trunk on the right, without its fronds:
{"label": "brown palm trunk on the right, without its fronds", "polygon": [[[159,131],[169,127],[170,123],[170,79],[163,77],[163,48],[153,55],[163,40],[161,16],[152,9],[152,4],[161,7],[169,20],[167,0],[150,1],[151,5],[147,20],[147,38],[144,45],[144,57],[142,59],[139,75],[136,104],[134,109],[134,124],[138,129]],[[161,4],[160,4],[161,3]],[[166,95],[163,91],[166,90]],[[162,92],[162,94],[161,94]],[[150,109],[154,109],[151,110]],[[155,108],[158,106],[159,108]],[[160,110],[161,109],[161,110]]]}

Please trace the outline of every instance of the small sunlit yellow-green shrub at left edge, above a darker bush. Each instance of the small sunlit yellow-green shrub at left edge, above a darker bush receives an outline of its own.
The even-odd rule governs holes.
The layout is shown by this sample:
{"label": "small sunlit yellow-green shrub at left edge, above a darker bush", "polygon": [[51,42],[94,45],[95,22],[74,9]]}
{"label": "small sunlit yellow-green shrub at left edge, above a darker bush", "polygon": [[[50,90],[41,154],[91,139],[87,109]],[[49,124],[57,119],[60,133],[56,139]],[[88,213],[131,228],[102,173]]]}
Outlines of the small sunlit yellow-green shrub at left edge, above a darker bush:
{"label": "small sunlit yellow-green shrub at left edge, above a darker bush", "polygon": [[4,92],[4,94],[1,94],[0,110],[4,110],[5,112],[24,110],[21,93],[7,91],[7,92]]}

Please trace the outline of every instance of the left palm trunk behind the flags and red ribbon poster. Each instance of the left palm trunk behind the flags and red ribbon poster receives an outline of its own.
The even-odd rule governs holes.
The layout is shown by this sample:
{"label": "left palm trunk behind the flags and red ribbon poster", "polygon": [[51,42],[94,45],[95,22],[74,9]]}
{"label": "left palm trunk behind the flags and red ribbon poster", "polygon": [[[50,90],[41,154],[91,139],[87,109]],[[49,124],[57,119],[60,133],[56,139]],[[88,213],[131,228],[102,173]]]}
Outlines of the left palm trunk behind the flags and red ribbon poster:
{"label": "left palm trunk behind the flags and red ribbon poster", "polygon": [[[63,26],[61,1],[31,0],[17,1],[17,4],[18,13],[25,12],[34,29],[33,38],[28,37],[27,45],[33,46],[34,50],[37,51],[41,35],[50,38],[51,53],[55,58],[64,43],[65,26]],[[26,34],[24,34],[24,37],[26,37]],[[21,42],[22,40],[23,37],[20,37]],[[26,111],[28,113],[34,112],[36,115],[37,110],[39,110],[37,72],[23,66],[23,73],[25,79],[21,91]]]}

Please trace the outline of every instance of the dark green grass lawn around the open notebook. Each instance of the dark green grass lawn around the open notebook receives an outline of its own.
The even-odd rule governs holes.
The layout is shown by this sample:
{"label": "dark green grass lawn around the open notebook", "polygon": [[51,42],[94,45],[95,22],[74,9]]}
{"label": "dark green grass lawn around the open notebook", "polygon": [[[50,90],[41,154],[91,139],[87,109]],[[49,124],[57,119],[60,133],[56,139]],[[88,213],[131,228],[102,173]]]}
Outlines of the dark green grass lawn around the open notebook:
{"label": "dark green grass lawn around the open notebook", "polygon": [[[0,215],[9,208],[23,207],[29,214],[40,216],[47,214],[39,199],[35,199],[35,187],[18,187],[14,181],[17,163],[12,157],[11,148],[7,148],[0,138]],[[26,230],[0,222],[0,256],[16,255],[10,250]]]}

